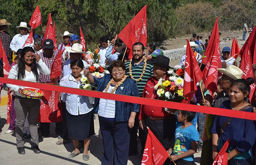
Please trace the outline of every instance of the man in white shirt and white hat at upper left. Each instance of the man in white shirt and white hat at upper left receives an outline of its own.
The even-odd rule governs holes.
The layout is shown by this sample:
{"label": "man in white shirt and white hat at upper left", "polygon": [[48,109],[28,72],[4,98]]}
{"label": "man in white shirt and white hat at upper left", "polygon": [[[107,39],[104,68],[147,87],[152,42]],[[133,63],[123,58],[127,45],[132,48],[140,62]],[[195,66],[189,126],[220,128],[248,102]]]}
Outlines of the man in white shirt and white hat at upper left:
{"label": "man in white shirt and white hat at upper left", "polygon": [[[28,27],[27,27],[27,23],[25,22],[20,22],[20,26],[16,26],[16,28],[19,28],[20,33],[16,34],[13,38],[12,41],[10,43],[10,48],[12,49],[12,51],[14,51],[15,53],[17,52],[18,49],[21,49],[26,41],[26,39],[29,37],[28,32]],[[27,46],[33,47],[34,43],[29,44]]]}

